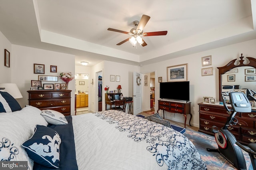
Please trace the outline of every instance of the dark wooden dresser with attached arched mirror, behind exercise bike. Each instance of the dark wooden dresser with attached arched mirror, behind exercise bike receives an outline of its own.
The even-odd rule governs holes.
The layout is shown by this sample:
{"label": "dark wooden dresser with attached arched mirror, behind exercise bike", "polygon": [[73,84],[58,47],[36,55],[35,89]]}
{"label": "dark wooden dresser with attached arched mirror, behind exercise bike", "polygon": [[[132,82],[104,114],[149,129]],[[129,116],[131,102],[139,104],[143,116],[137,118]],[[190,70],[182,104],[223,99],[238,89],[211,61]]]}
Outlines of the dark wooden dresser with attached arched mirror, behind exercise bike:
{"label": "dark wooden dresser with attached arched mirror, behind exercise bike", "polygon": [[[255,72],[246,74],[246,70],[248,69],[255,71],[255,58],[244,58],[241,54],[240,60],[233,59],[225,66],[217,68],[219,70],[219,101],[222,101],[222,93],[228,96],[228,93],[231,91],[240,91],[243,93],[246,93],[246,89],[256,91],[256,81],[246,81],[246,77],[251,76],[255,78],[256,76]],[[236,69],[240,69],[240,71],[236,71]],[[234,75],[236,81],[225,81],[229,75]],[[242,79],[239,80],[239,77],[242,77]],[[227,91],[223,88],[224,86],[235,87],[235,85],[239,85],[239,89],[233,88]],[[226,102],[228,102],[228,98],[226,98]],[[256,104],[256,102],[252,103]],[[200,119],[200,128],[198,131],[214,135],[214,133],[211,132],[211,127],[216,126],[222,128],[230,116],[230,113],[226,111],[223,105],[214,105],[204,102],[198,103],[198,105]],[[256,106],[252,107],[251,113],[236,113],[236,119],[238,119],[237,125],[228,128],[228,130],[234,134],[236,140],[243,144],[256,143]]]}

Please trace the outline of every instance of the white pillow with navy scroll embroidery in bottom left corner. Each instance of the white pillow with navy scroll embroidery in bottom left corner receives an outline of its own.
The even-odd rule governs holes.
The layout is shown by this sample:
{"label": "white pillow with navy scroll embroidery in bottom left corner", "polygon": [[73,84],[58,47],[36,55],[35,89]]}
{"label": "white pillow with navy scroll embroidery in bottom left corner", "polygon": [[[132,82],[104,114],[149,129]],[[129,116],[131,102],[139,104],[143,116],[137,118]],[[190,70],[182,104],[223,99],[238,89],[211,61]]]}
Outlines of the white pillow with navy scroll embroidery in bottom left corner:
{"label": "white pillow with navy scroll embroidery in bottom left corner", "polygon": [[28,161],[32,170],[34,162],[21,145],[32,136],[33,130],[12,113],[0,113],[0,129],[0,160]]}

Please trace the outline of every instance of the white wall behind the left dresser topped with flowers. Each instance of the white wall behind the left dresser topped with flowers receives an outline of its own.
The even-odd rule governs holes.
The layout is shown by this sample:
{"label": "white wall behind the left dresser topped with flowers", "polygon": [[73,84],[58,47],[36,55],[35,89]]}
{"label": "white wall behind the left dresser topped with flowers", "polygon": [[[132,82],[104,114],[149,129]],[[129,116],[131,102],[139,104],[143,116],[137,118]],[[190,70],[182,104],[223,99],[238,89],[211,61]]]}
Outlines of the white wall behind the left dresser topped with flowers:
{"label": "white wall behind the left dresser topped with flowers", "polygon": [[[34,63],[44,64],[44,75],[58,76],[61,72],[75,73],[74,55],[58,53],[43,49],[12,45],[12,83],[16,83],[22,93],[23,98],[17,99],[21,107],[28,105],[28,90],[31,87],[31,80],[38,80],[38,75],[34,73]],[[57,73],[50,72],[50,65],[57,65]],[[61,79],[57,81],[42,81],[44,83],[65,83]],[[71,114],[74,115],[74,79],[69,82],[68,89],[71,92]]]}

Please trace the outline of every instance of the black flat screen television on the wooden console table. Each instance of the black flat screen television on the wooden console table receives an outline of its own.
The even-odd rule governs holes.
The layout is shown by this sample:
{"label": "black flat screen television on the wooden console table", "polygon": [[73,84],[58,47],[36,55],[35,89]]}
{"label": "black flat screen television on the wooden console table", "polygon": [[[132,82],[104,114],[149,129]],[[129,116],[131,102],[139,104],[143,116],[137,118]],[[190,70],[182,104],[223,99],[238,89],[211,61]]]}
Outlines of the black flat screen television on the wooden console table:
{"label": "black flat screen television on the wooden console table", "polygon": [[189,81],[160,83],[160,98],[189,101]]}

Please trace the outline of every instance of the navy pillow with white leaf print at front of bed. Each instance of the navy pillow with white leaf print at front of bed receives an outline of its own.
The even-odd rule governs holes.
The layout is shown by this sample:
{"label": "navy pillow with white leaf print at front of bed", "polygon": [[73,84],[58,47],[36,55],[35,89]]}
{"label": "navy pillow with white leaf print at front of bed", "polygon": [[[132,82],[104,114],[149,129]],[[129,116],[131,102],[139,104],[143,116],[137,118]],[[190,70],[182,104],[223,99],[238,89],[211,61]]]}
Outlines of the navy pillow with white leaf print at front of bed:
{"label": "navy pillow with white leaf print at front of bed", "polygon": [[34,162],[49,168],[59,168],[60,143],[60,136],[55,130],[36,125],[33,136],[22,146]]}

